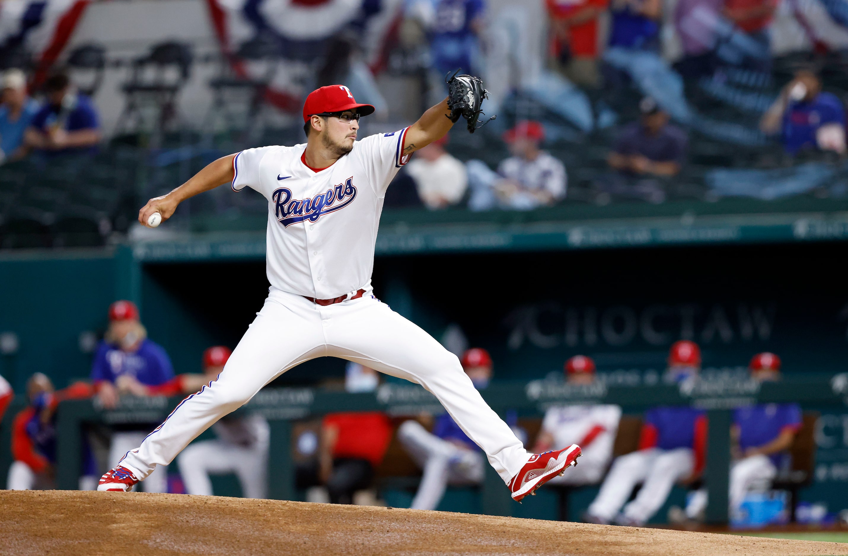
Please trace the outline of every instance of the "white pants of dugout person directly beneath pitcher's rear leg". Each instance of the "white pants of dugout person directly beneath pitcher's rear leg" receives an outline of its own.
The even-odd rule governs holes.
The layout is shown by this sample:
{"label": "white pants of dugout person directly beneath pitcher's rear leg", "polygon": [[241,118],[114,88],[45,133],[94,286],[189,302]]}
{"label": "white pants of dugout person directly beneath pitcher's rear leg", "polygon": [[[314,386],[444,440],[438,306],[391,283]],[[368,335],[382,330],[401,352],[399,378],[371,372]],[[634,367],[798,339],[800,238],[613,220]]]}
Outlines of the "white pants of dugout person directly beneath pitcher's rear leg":
{"label": "white pants of dugout person directly beneath pitcher's rear leg", "polygon": [[212,496],[210,474],[235,473],[244,498],[265,498],[268,476],[267,447],[244,448],[221,440],[190,444],[176,459],[189,494]]}

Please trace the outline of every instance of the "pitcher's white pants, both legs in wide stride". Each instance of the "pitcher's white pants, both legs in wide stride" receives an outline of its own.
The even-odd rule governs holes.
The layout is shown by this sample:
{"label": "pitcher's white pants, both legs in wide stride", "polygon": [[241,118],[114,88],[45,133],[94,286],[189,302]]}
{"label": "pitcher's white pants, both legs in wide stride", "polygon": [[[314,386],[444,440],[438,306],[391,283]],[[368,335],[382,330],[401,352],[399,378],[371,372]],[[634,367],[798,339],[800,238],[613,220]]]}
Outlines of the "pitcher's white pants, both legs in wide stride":
{"label": "pitcher's white pants, both legs in wide stride", "polygon": [[120,465],[146,478],[265,384],[321,356],[340,357],[421,384],[483,449],[505,483],[530,459],[510,427],[483,401],[456,355],[370,292],[325,307],[272,288],[218,379],[183,400]]}

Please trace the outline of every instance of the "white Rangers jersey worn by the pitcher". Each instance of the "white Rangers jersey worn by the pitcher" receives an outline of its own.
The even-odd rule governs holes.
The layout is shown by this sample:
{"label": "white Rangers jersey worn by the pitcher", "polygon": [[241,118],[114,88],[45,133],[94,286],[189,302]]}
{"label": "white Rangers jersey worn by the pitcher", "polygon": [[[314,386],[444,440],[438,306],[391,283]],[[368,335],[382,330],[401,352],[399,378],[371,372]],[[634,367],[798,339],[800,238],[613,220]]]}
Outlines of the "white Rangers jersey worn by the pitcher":
{"label": "white Rangers jersey worn by the pitcher", "polygon": [[409,128],[371,135],[329,168],[304,162],[306,145],[263,146],[233,160],[233,190],[268,200],[271,286],[326,300],[371,287],[374,244],[388,184],[408,160]]}

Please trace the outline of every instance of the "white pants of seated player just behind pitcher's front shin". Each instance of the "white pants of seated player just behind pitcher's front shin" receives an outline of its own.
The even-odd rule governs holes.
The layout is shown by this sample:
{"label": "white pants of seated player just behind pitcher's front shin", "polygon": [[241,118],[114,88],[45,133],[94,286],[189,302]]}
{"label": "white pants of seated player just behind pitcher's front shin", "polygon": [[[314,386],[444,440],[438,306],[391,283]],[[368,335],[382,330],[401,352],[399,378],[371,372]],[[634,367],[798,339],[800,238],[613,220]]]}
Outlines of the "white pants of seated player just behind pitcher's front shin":
{"label": "white pants of seated player just behind pitcher's front shin", "polygon": [[448,484],[483,482],[483,454],[438,438],[417,421],[405,421],[398,439],[424,471],[411,509],[436,509]]}

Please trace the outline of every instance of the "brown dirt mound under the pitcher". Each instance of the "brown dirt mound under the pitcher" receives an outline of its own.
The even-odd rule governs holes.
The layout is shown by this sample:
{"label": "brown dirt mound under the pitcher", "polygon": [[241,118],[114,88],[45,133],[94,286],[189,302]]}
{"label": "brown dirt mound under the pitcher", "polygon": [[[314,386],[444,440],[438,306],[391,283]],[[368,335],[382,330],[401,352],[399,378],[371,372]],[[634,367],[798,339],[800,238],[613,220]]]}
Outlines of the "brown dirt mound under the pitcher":
{"label": "brown dirt mound under the pitcher", "polygon": [[0,491],[0,553],[788,556],[848,554],[848,545],[276,500]]}

